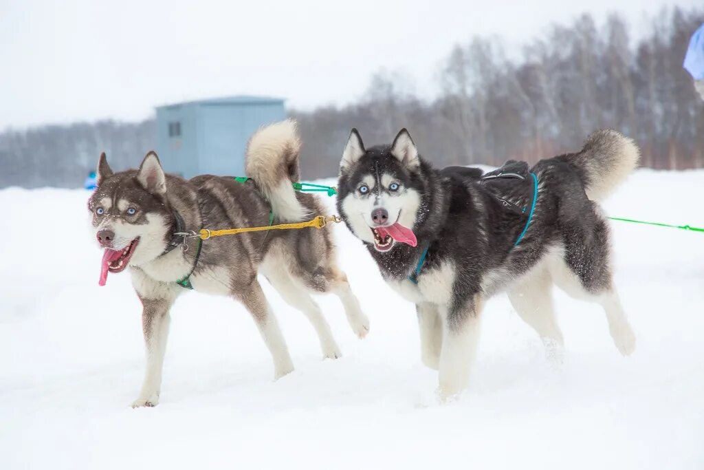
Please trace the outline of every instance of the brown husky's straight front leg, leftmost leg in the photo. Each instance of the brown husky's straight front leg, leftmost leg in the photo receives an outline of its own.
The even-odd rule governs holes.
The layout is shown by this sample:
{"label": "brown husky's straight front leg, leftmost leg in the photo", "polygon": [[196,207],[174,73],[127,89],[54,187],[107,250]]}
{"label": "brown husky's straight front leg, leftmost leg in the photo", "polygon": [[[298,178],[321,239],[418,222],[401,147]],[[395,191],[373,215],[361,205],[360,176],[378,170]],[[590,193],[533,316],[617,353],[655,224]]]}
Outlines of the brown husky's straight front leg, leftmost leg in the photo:
{"label": "brown husky's straight front leg, leftmost leg in the photo", "polygon": [[142,299],[142,332],[146,344],[146,371],[142,391],[132,408],[155,407],[161,392],[161,372],[169,335],[169,309],[172,302],[165,299]]}

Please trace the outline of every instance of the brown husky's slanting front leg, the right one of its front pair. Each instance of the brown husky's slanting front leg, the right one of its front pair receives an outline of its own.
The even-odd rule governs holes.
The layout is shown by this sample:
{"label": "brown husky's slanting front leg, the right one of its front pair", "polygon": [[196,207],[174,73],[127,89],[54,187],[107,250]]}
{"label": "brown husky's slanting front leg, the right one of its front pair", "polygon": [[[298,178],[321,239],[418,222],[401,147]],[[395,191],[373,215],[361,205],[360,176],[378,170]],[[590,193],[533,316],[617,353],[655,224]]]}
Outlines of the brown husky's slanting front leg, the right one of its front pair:
{"label": "brown husky's slanting front leg, the right one of its front pair", "polygon": [[289,348],[269,302],[264,297],[261,285],[255,279],[250,285],[234,290],[234,293],[256,321],[259,333],[274,359],[274,379],[293,371],[294,364],[289,355]]}

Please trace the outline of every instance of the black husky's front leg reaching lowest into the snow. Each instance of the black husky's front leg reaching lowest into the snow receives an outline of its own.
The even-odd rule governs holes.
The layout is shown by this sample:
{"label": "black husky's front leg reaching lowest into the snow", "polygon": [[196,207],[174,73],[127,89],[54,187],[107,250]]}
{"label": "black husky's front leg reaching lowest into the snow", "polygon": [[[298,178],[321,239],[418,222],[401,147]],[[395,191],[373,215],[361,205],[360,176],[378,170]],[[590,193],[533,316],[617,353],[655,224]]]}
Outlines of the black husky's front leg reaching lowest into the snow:
{"label": "black husky's front leg reaching lowest into the snow", "polygon": [[440,310],[444,318],[438,392],[445,401],[462,392],[469,382],[479,345],[482,300],[474,296],[463,307]]}

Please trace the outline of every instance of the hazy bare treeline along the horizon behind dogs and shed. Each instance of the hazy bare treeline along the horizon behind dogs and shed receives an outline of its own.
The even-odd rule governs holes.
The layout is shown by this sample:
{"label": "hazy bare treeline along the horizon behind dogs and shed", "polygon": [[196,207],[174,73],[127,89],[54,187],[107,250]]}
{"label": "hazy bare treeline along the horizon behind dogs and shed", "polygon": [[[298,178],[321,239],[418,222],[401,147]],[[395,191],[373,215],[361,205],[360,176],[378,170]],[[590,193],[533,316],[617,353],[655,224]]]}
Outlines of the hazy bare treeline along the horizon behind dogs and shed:
{"label": "hazy bare treeline along the horizon behind dogs and shed", "polygon": [[[704,103],[681,66],[703,22],[701,9],[664,10],[634,42],[620,16],[597,24],[583,15],[552,25],[520,54],[475,37],[444,58],[432,101],[415,96],[403,76],[379,73],[356,104],[291,111],[303,136],[303,176],[337,174],[352,127],[367,145],[408,128],[438,165],[534,162],[609,127],[634,137],[643,166],[704,167]],[[75,187],[101,151],[116,168],[136,166],[155,140],[153,120],[7,131],[0,134],[0,186]]]}

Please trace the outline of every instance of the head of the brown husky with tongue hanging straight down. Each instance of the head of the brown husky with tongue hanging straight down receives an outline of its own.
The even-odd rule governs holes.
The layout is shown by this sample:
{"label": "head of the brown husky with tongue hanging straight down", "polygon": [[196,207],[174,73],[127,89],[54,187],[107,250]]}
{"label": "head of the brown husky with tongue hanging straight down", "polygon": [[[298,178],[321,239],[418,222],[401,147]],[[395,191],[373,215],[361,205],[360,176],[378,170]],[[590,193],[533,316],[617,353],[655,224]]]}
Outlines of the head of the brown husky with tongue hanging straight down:
{"label": "head of the brown husky with tongue hanging straight down", "polygon": [[105,251],[100,285],[110,273],[140,266],[163,254],[174,216],[166,199],[166,176],[156,154],[146,154],[139,170],[113,173],[101,154],[97,187],[88,200],[96,242]]}

